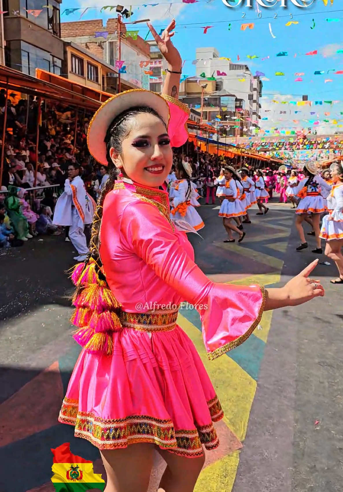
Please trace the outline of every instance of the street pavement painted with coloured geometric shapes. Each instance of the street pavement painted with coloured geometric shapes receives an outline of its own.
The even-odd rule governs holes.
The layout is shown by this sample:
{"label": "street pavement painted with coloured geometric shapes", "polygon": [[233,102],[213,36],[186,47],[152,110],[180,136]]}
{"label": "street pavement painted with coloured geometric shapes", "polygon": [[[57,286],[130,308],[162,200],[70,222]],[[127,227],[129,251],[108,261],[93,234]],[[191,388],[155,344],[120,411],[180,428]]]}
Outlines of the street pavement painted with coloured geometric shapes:
{"label": "street pavement painted with coloured geometric shapes", "polygon": [[[309,249],[295,251],[289,204],[272,202],[263,216],[252,210],[241,244],[223,243],[218,208],[198,209],[205,228],[201,237],[188,235],[214,281],[279,286],[316,257],[311,237]],[[105,478],[97,449],[57,422],[80,352],[68,321],[74,254],[62,237],[42,239],[0,253],[0,492],[53,491],[50,448],[63,442]],[[196,492],[342,491],[343,303],[341,286],[329,282],[336,276],[333,264],[318,265],[313,277],[325,298],[264,313],[245,343],[212,362],[197,313],[180,312],[225,414]],[[155,464],[150,492],[163,472],[158,455]]]}

